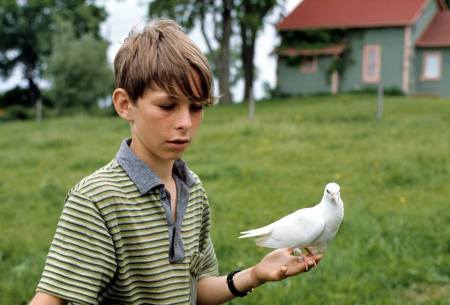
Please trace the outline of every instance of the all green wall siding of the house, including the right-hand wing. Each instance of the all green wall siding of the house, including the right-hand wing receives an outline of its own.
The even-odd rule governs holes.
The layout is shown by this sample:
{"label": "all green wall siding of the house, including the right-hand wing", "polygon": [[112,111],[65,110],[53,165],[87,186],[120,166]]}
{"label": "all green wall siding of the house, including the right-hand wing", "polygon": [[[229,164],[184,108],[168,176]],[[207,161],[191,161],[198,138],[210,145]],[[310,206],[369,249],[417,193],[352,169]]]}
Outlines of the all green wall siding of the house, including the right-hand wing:
{"label": "all green wall siding of the house, including the right-hand wing", "polygon": [[[450,48],[442,52],[442,78],[440,81],[421,81],[424,49],[415,48],[417,39],[429,25],[439,10],[437,1],[429,0],[415,24],[411,26],[412,50],[410,50],[409,93],[436,94],[450,96]],[[379,45],[381,49],[381,82],[385,89],[403,91],[403,56],[405,28],[372,28],[348,30],[346,39],[350,58],[340,77],[339,92],[376,89],[378,84],[367,84],[362,80],[364,46]],[[428,49],[431,50],[431,49]],[[434,49],[436,50],[436,49]],[[278,61],[278,89],[287,94],[329,93],[330,81],[326,71],[332,61],[331,56],[319,57],[318,72],[303,74],[299,67],[288,66],[281,58]]]}

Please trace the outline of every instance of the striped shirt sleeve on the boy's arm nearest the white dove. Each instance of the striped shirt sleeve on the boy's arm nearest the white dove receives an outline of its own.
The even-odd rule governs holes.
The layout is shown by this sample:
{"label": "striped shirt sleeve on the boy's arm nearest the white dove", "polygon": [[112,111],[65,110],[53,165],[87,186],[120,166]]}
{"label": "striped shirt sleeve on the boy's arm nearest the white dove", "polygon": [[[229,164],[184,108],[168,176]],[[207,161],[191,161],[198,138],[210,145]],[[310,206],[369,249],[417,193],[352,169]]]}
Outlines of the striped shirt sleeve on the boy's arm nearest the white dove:
{"label": "striped shirt sleeve on the boy's arm nearest the white dove", "polygon": [[216,252],[214,251],[214,246],[211,240],[210,228],[210,208],[208,197],[206,193],[203,198],[203,216],[202,216],[202,228],[200,232],[200,251],[204,255],[205,259],[200,268],[199,279],[208,276],[218,276],[219,275],[219,264],[217,262]]}

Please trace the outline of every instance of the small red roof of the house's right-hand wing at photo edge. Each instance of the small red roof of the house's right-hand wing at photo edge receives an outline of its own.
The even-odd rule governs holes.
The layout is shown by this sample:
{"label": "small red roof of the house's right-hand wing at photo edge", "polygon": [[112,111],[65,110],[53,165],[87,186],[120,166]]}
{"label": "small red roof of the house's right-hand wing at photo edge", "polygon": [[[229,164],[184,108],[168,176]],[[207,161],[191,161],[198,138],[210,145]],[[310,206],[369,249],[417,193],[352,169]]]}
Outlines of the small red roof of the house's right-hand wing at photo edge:
{"label": "small red roof of the house's right-hand wing at photo edge", "polygon": [[450,11],[436,14],[433,21],[423,32],[416,43],[418,47],[449,47],[450,46]]}

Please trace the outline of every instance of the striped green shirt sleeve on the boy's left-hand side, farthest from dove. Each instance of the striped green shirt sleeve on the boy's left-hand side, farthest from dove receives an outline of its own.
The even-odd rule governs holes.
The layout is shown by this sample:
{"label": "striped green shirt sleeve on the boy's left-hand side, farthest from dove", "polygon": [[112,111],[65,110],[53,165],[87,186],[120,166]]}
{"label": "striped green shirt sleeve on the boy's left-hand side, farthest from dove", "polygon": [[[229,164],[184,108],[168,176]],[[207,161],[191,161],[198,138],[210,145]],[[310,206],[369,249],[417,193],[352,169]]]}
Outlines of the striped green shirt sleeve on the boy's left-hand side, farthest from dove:
{"label": "striped green shirt sleeve on the boy's left-hand side, farthest from dove", "polygon": [[99,304],[116,271],[114,244],[96,205],[68,195],[36,291],[72,304]]}

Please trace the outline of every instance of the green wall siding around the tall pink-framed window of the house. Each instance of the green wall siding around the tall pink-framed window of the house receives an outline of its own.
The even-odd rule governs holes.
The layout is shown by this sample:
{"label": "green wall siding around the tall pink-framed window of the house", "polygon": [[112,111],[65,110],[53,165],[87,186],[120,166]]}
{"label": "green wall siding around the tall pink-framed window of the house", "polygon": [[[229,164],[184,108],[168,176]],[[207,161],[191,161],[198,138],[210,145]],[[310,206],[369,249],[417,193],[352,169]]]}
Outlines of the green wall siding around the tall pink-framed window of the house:
{"label": "green wall siding around the tall pink-framed window of the house", "polygon": [[349,33],[350,63],[342,77],[340,91],[376,88],[378,84],[362,81],[364,45],[376,44],[381,48],[381,82],[384,88],[402,89],[403,78],[403,28],[378,28],[353,30]]}

